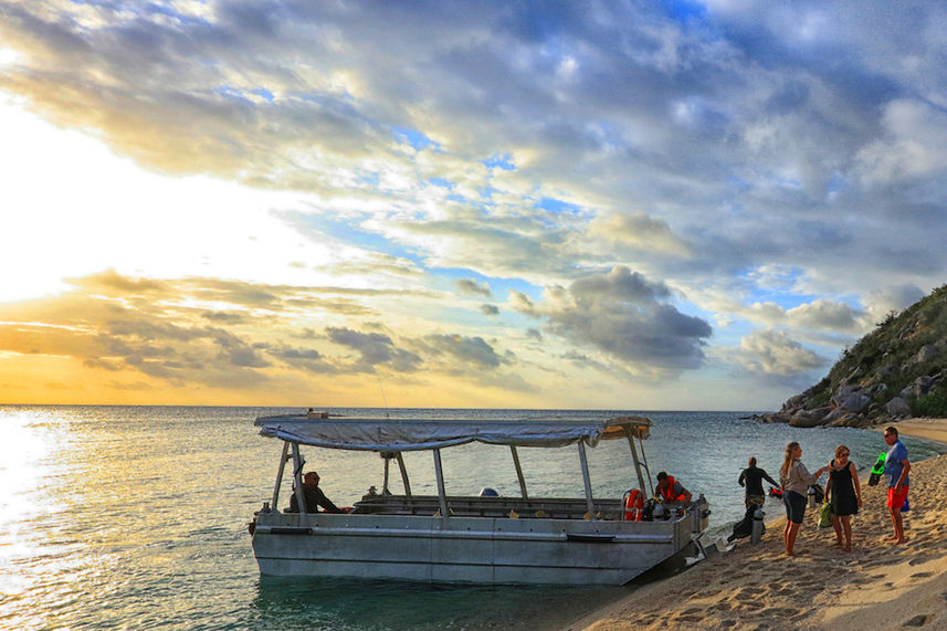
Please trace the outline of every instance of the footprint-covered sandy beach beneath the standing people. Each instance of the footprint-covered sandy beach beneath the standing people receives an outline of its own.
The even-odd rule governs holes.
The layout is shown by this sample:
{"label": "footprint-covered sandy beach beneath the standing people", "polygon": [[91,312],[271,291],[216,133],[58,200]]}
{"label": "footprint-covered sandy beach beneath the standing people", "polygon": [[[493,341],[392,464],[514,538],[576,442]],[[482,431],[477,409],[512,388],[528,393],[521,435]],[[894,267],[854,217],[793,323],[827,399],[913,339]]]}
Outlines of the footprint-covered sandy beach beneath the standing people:
{"label": "footprint-covered sandy beach beneath the standing people", "polygon": [[[947,419],[896,427],[903,435],[947,443]],[[866,473],[871,463],[860,465]],[[899,546],[885,540],[893,530],[884,481],[874,487],[863,482],[851,553],[834,545],[832,528],[816,527],[816,511],[809,509],[796,556],[788,558],[786,519],[768,518],[759,544],[738,539],[732,551],[645,585],[566,629],[947,629],[945,488],[947,455],[912,462],[907,541]],[[777,509],[770,507],[770,515]]]}

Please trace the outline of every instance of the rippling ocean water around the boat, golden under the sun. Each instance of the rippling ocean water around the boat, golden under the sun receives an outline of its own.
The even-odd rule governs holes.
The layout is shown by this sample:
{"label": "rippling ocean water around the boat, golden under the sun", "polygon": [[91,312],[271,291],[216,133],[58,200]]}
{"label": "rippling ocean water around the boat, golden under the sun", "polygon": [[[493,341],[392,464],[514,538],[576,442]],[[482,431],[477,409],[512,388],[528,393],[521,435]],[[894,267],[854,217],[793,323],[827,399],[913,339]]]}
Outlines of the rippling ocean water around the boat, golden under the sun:
{"label": "rippling ocean water around the boat, golden under the sun", "polygon": [[[253,420],[298,411],[0,406],[0,629],[544,629],[634,588],[261,577],[246,523],[271,498],[282,443],[259,437]],[[712,534],[726,535],[743,515],[737,476],[749,455],[776,477],[792,440],[802,444],[802,461],[812,470],[840,443],[849,445],[861,470],[885,449],[877,432],[759,424],[744,418],[746,412],[515,411],[520,417],[623,413],[654,421],[645,442],[652,475],[666,470],[695,495],[706,495]],[[914,461],[947,451],[905,442]],[[315,449],[304,454],[336,504],[351,504],[370,485],[381,486],[377,454]],[[518,494],[505,448],[463,445],[442,456],[451,494],[483,486]],[[575,449],[523,449],[520,459],[530,495],[583,495]],[[596,496],[620,496],[632,485],[627,442],[602,441],[589,460]],[[412,491],[434,493],[431,454],[407,454],[406,461]],[[400,488],[397,475],[392,486]],[[769,516],[780,511],[778,502],[768,502]]]}

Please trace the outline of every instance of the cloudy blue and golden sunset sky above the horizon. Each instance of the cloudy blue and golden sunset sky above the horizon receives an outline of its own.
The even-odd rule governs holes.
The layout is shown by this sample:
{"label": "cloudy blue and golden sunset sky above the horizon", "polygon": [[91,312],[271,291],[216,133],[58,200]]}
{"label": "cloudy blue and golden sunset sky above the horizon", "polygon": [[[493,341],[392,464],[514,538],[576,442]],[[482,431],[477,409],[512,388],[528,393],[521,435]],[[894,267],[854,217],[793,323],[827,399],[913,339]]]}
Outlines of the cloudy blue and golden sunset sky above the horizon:
{"label": "cloudy blue and golden sunset sky above the horizon", "polygon": [[0,0],[0,403],[778,409],[947,282],[937,2]]}

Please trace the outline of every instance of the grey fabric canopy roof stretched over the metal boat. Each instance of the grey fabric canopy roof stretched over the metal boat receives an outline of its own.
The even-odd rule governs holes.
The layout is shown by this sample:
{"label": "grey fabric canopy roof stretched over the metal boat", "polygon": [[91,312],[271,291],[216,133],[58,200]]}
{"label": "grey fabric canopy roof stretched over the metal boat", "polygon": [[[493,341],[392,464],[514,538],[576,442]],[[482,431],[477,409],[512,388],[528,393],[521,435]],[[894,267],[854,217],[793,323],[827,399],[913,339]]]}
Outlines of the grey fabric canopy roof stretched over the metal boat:
{"label": "grey fabric canopy roof stretched over the metal boat", "polygon": [[260,434],[284,441],[357,451],[420,451],[482,442],[515,446],[566,446],[628,435],[646,439],[651,420],[611,419],[313,419],[305,414],[261,417]]}

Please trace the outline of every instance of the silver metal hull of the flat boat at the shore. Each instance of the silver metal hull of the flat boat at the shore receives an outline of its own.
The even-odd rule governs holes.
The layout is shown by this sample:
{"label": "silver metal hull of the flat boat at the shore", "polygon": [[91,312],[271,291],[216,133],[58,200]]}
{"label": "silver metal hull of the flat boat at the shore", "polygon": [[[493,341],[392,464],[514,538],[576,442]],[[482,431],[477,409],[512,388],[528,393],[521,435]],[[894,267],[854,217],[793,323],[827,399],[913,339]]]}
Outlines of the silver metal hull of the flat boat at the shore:
{"label": "silver metal hull of the flat boat at the shore", "polygon": [[699,529],[690,511],[666,522],[271,512],[256,515],[253,550],[272,576],[623,585]]}

